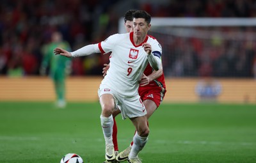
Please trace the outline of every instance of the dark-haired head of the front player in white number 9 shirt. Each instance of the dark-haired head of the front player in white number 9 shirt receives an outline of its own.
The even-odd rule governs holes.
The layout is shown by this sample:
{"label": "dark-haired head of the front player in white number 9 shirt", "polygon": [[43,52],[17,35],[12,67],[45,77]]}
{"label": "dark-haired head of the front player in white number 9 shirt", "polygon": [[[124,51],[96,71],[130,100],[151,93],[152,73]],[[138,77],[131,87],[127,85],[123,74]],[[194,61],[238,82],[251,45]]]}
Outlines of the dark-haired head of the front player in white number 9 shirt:
{"label": "dark-haired head of the front player in white number 9 shirt", "polygon": [[151,27],[151,16],[149,13],[138,10],[132,13],[132,28],[136,37],[145,37]]}

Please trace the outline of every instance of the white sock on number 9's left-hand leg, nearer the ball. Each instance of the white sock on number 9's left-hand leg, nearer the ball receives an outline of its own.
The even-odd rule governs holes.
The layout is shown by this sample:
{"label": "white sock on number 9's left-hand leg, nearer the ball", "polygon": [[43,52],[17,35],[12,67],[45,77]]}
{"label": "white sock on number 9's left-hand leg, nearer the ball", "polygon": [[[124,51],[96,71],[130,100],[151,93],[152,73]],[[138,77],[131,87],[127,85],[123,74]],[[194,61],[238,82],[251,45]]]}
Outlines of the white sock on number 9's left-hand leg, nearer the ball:
{"label": "white sock on number 9's left-hand leg, nearer the ball", "polygon": [[104,134],[104,139],[106,144],[113,144],[112,141],[112,132],[113,132],[113,116],[104,117],[100,115],[100,123],[102,127],[102,131]]}

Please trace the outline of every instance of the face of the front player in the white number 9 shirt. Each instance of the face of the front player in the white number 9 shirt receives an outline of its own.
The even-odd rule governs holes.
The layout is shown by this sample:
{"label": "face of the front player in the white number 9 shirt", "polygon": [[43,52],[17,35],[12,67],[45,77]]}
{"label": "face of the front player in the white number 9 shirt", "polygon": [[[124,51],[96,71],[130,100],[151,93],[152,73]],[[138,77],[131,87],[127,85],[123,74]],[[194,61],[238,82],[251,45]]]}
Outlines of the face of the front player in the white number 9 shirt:
{"label": "face of the front player in the white number 9 shirt", "polygon": [[137,38],[145,37],[150,29],[150,26],[151,25],[147,24],[143,18],[133,19],[133,31]]}

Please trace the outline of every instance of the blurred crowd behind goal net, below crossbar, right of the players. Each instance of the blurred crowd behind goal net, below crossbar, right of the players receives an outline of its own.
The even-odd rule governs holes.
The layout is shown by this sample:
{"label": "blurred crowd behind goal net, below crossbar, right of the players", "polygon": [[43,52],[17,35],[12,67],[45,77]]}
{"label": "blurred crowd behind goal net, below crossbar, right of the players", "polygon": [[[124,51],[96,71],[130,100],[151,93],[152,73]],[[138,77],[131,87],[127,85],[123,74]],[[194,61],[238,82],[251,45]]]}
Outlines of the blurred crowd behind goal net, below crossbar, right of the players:
{"label": "blurred crowd behind goal net, below crossbar, right of the players", "polygon": [[172,27],[169,30],[172,33],[151,32],[160,38],[163,47],[165,75],[256,77],[256,27]]}

